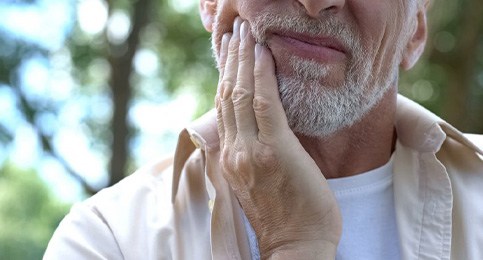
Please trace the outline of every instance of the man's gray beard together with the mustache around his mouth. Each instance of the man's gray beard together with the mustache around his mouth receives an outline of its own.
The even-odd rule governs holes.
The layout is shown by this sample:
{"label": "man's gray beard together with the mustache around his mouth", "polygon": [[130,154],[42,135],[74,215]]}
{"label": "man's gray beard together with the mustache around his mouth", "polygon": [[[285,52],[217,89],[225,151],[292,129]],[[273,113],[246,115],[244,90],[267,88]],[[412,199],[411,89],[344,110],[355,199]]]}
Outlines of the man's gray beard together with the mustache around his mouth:
{"label": "man's gray beard together with the mustache around his mouth", "polygon": [[[255,40],[262,45],[267,45],[267,31],[276,28],[333,37],[349,50],[345,80],[337,85],[327,82],[330,67],[313,60],[292,57],[293,75],[276,71],[280,99],[289,126],[297,134],[327,137],[354,125],[382,99],[397,78],[400,55],[394,55],[385,73],[373,77],[373,57],[363,50],[358,34],[331,17],[314,20],[303,15],[262,13],[251,22],[251,28]],[[214,32],[217,32],[216,21]]]}

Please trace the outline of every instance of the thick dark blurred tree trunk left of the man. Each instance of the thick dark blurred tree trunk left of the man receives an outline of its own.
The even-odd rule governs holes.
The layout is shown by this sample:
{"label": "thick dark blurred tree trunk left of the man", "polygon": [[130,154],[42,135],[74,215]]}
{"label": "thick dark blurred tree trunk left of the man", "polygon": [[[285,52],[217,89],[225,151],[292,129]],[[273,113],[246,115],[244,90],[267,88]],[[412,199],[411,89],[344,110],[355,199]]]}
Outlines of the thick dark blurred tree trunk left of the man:
{"label": "thick dark blurred tree trunk left of the man", "polygon": [[[111,66],[111,94],[114,113],[111,122],[112,155],[109,162],[109,182],[112,186],[125,177],[129,159],[130,127],[127,120],[132,97],[130,78],[132,62],[140,42],[140,32],[148,23],[152,0],[138,0],[133,6],[132,30],[127,40],[120,44],[109,44]],[[111,5],[112,6],[112,5]],[[110,11],[111,8],[110,8]]]}

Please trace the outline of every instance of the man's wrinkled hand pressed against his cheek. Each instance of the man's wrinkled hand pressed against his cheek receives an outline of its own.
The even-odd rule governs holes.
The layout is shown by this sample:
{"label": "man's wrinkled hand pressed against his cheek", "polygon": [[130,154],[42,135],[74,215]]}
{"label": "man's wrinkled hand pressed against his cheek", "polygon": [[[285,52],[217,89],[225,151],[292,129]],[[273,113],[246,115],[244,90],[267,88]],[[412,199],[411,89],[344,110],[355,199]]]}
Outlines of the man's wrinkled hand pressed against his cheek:
{"label": "man's wrinkled hand pressed against his cheek", "polygon": [[339,208],[289,128],[270,51],[235,19],[220,52],[215,99],[220,165],[258,238],[262,258],[335,257]]}

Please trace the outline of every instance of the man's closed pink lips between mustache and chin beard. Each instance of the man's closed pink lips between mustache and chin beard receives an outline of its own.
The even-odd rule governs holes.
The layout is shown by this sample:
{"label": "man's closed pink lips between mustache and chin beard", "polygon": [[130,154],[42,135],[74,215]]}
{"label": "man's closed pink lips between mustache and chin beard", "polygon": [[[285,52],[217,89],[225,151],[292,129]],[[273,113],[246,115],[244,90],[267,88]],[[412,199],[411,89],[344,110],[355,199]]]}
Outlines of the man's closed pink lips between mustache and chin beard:
{"label": "man's closed pink lips between mustache and chin beard", "polygon": [[[271,32],[268,45],[274,52],[290,52],[306,59],[332,63],[347,58],[347,50],[337,39],[294,32]],[[286,54],[285,54],[286,55]]]}

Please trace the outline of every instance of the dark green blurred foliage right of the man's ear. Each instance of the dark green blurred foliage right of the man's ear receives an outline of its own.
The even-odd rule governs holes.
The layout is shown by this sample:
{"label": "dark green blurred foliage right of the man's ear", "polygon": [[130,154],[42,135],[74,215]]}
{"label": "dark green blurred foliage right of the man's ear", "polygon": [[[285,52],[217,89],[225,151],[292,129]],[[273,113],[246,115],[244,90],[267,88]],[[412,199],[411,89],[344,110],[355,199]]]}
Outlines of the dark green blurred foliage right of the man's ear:
{"label": "dark green blurred foliage right of the man's ear", "polygon": [[464,132],[483,133],[483,1],[433,0],[421,60],[399,91]]}

